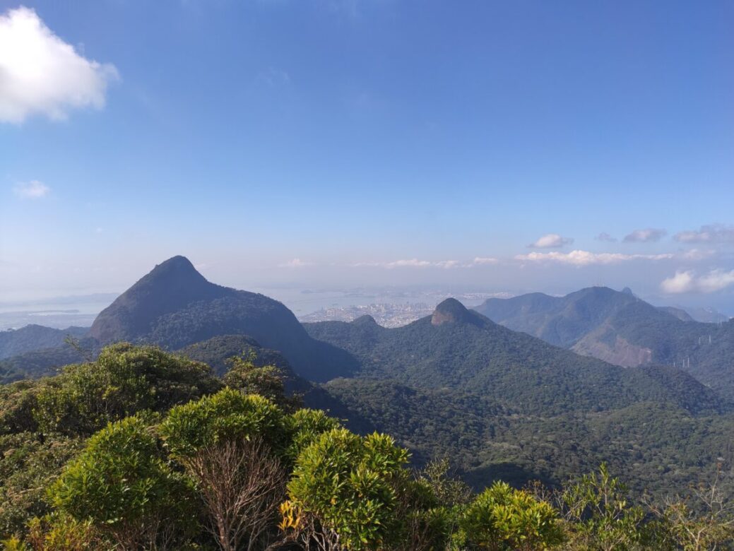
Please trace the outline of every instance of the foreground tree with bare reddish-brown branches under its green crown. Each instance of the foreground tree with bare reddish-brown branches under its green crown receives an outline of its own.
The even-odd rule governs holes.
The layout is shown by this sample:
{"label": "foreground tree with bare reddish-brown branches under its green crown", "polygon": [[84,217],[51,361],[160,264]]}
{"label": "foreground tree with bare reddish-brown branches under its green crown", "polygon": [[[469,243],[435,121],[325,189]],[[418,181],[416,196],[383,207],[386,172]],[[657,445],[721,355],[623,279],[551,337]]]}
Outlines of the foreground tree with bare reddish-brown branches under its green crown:
{"label": "foreground tree with bare reddish-brown branches under its green crown", "polygon": [[171,409],[161,434],[195,481],[219,547],[265,547],[285,496],[283,412],[262,396],[228,388]]}

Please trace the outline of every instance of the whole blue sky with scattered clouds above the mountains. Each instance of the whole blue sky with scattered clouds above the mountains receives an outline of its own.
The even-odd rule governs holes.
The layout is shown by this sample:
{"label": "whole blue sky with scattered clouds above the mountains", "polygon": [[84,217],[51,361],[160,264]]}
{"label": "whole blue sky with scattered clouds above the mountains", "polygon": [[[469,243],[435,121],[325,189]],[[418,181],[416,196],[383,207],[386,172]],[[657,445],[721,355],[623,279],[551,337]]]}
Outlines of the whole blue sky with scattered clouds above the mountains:
{"label": "whole blue sky with scattered clouds above the mountains", "polygon": [[238,287],[734,310],[730,1],[23,6],[0,1],[0,41],[38,47],[0,52],[0,299],[184,254]]}

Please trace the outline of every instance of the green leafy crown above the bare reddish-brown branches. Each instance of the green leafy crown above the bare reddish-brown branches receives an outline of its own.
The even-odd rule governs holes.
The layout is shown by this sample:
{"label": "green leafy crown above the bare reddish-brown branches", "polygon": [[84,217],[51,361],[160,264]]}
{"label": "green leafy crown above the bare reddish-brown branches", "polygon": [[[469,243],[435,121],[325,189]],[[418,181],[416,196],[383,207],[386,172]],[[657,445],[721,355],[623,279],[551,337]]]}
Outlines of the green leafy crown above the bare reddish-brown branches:
{"label": "green leafy crown above the bare reddish-brown branches", "polygon": [[179,458],[217,442],[255,436],[279,451],[286,446],[284,417],[267,398],[225,388],[172,408],[161,424],[161,435],[171,455]]}

